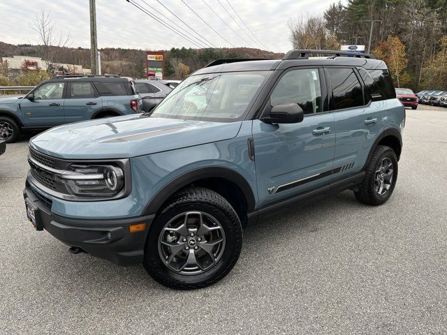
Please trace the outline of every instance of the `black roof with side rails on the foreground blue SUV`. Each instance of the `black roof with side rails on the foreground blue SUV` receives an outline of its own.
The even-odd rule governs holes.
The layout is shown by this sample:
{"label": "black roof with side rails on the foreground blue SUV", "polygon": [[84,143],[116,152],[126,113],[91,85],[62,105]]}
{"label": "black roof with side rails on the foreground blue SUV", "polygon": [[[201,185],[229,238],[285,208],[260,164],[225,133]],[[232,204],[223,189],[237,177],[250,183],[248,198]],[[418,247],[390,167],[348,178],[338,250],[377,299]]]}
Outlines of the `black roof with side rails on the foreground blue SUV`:
{"label": "black roof with side rails on the foreground blue SUV", "polygon": [[[309,57],[310,54],[329,54],[325,57]],[[283,59],[218,59],[194,75],[204,73],[283,70],[291,66],[362,66],[366,69],[385,70],[386,64],[370,54],[337,50],[291,50]]]}

